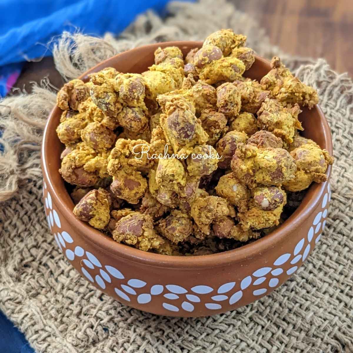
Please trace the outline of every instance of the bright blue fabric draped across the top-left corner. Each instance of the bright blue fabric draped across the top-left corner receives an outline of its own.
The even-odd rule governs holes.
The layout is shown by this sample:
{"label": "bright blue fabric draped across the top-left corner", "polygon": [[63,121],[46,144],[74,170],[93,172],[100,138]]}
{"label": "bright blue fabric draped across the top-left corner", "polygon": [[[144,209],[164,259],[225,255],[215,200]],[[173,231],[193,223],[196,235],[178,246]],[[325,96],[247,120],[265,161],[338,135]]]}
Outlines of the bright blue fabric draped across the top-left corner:
{"label": "bright blue fabric draped across the top-left corner", "polygon": [[2,0],[0,66],[50,56],[47,43],[64,30],[85,34],[119,33],[137,14],[161,14],[168,0]]}

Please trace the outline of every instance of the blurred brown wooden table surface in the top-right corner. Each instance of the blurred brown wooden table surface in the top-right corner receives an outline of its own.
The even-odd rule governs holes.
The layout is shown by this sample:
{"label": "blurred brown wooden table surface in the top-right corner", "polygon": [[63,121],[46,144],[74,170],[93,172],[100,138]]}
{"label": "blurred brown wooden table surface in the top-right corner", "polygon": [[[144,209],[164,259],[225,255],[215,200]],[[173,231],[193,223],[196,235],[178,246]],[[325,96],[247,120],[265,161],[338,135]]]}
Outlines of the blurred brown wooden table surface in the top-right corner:
{"label": "blurred brown wooden table surface in the top-right corner", "polygon": [[288,54],[325,58],[353,77],[353,0],[230,0]]}

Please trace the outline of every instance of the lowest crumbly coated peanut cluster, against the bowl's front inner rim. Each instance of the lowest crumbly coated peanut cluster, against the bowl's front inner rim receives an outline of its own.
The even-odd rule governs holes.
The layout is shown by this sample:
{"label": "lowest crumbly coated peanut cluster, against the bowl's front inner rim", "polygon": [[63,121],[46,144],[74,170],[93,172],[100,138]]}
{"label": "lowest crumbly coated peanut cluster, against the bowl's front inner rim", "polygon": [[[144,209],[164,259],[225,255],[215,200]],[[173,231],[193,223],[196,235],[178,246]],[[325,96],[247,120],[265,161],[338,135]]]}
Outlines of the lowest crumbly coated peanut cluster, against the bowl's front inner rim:
{"label": "lowest crumbly coated peanut cluster, against the bowl's front inner rim", "polygon": [[139,212],[132,212],[117,221],[112,234],[116,242],[133,245],[143,251],[158,249],[164,243],[153,229],[152,217]]}

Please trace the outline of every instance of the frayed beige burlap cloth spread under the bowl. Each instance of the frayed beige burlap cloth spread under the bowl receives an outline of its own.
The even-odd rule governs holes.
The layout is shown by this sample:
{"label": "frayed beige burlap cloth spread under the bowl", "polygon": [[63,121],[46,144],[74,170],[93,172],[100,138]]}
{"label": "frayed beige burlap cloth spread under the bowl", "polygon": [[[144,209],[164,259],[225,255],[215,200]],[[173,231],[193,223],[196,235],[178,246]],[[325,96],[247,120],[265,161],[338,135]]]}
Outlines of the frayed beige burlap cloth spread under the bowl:
{"label": "frayed beige burlap cloth spread under the bowl", "polygon": [[158,317],[102,294],[68,264],[47,228],[39,144],[55,89],[44,80],[31,95],[5,98],[0,107],[0,309],[37,352],[353,352],[352,80],[322,59],[283,55],[254,20],[223,0],[174,2],[169,10],[174,16],[165,22],[152,13],[140,16],[118,41],[109,34],[104,40],[63,34],[56,67],[72,79],[134,46],[202,40],[220,28],[248,35],[259,55],[280,54],[318,90],[332,129],[332,204],[319,246],[273,293],[222,315]]}

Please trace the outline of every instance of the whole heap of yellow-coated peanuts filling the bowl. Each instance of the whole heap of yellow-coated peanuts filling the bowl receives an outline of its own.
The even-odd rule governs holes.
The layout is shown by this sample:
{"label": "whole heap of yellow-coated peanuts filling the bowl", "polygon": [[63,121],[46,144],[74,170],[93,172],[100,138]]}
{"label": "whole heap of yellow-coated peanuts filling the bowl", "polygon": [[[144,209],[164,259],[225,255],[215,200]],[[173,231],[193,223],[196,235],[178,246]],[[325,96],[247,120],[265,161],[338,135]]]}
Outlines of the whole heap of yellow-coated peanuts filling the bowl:
{"label": "whole heap of yellow-coated peanuts filling the bowl", "polygon": [[274,57],[260,82],[246,37],[220,30],[185,59],[158,48],[142,74],[114,68],[58,93],[62,178],[74,215],[165,255],[234,249],[273,231],[333,158],[301,137],[317,92]]}

